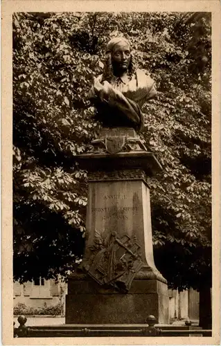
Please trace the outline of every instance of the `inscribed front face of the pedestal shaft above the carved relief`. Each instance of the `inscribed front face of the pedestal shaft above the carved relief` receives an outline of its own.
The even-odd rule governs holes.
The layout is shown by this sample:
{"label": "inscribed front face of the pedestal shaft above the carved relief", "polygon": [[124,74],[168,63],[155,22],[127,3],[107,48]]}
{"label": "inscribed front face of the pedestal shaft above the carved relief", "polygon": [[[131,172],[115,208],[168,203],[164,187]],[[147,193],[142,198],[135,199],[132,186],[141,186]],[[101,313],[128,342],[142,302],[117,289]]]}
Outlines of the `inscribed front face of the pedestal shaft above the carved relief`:
{"label": "inscribed front face of the pedestal shaft above the carved relief", "polygon": [[141,181],[95,182],[89,185],[88,224],[92,233],[95,230],[102,233],[116,230],[132,235],[134,224],[143,215]]}

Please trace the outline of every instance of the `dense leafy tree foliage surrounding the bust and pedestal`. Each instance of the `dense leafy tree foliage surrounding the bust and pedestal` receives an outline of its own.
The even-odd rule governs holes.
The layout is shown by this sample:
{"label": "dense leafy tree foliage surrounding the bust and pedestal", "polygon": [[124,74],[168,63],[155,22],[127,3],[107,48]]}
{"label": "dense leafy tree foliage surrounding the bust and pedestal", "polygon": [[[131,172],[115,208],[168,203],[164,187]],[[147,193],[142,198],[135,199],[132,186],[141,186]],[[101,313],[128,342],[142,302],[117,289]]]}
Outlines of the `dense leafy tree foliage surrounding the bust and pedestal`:
{"label": "dense leafy tree foliage surrounding the bust and pedestal", "polygon": [[204,12],[13,15],[14,277],[64,277],[82,257],[87,172],[100,125],[87,100],[105,45],[124,35],[156,81],[141,138],[154,257],[171,287],[211,285],[211,17]]}

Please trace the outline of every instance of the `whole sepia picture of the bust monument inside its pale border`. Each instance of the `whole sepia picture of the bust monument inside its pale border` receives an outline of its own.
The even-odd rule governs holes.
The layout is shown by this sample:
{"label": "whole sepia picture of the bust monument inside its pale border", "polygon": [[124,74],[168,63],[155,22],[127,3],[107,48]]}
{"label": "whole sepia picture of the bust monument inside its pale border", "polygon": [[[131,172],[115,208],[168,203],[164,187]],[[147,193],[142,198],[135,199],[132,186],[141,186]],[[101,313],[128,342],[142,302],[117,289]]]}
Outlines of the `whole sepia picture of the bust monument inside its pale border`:
{"label": "whole sepia picture of the bust monument inside its pale border", "polygon": [[13,343],[201,345],[212,11],[85,7],[12,12]]}

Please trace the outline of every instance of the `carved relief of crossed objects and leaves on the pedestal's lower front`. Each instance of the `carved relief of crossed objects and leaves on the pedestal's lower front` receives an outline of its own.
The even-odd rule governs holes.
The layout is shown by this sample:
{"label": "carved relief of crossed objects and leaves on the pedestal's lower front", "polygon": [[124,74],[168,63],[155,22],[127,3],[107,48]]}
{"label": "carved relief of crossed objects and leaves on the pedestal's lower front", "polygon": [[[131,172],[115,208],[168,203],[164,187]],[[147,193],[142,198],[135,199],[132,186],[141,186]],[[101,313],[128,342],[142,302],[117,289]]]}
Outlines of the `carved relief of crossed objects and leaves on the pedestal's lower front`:
{"label": "carved relief of crossed objects and leaves on the pedestal's lower front", "polygon": [[89,255],[85,258],[82,268],[100,285],[114,286],[118,291],[127,293],[136,273],[142,268],[143,262],[136,237],[124,235],[119,237],[112,232],[103,239],[96,232],[94,243],[89,246]]}

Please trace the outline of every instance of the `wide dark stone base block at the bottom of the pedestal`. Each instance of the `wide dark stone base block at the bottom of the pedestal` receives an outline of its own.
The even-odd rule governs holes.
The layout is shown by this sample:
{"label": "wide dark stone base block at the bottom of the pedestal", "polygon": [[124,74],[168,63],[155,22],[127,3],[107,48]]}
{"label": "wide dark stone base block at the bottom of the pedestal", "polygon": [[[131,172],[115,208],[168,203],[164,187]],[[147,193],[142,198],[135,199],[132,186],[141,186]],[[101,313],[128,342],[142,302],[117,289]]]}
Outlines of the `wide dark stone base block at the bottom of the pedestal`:
{"label": "wide dark stone base block at the bottom of the pedestal", "polygon": [[134,280],[130,293],[103,289],[94,280],[69,280],[66,323],[139,324],[148,315],[168,323],[168,288],[158,280]]}

